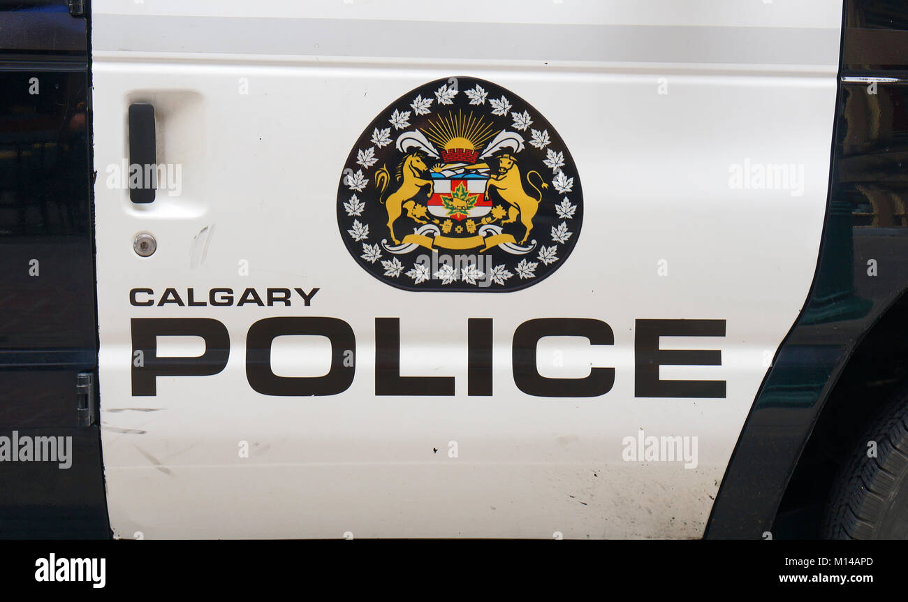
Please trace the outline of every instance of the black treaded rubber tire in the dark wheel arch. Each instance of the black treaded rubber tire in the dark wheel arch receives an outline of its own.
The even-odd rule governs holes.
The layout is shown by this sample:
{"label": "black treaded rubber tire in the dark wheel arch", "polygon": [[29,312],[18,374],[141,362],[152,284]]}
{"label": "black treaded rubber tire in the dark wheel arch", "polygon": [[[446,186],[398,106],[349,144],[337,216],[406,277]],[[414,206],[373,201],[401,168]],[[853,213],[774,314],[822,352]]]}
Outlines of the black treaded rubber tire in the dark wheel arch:
{"label": "black treaded rubber tire in the dark wheel arch", "polygon": [[[867,457],[867,443],[876,441],[876,458]],[[908,400],[890,406],[873,423],[852,460],[835,479],[824,517],[824,537],[830,539],[891,539],[881,528],[896,495],[908,488]]]}

